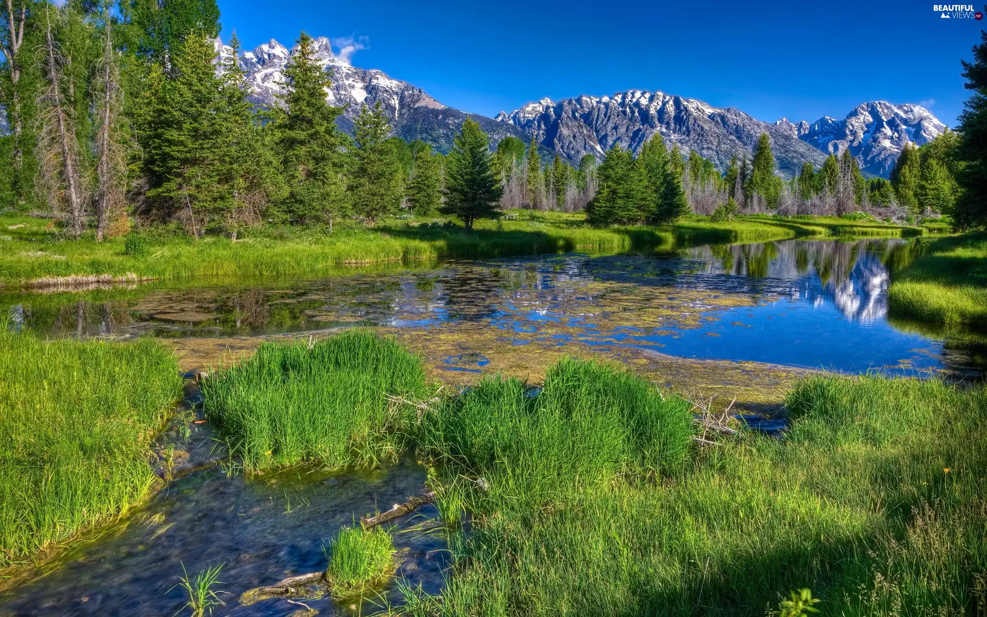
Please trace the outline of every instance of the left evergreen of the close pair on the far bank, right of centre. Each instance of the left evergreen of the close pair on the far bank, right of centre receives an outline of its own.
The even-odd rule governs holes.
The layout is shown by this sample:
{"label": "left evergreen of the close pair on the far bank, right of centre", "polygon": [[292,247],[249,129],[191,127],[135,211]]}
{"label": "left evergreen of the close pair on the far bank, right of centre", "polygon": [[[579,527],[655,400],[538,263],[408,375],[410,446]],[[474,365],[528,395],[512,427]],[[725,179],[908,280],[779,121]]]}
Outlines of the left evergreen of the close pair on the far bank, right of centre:
{"label": "left evergreen of the close pair on the far bank, right of centre", "polygon": [[597,181],[599,189],[586,206],[586,222],[612,225],[645,220],[652,194],[645,166],[630,152],[614,144],[597,169]]}

